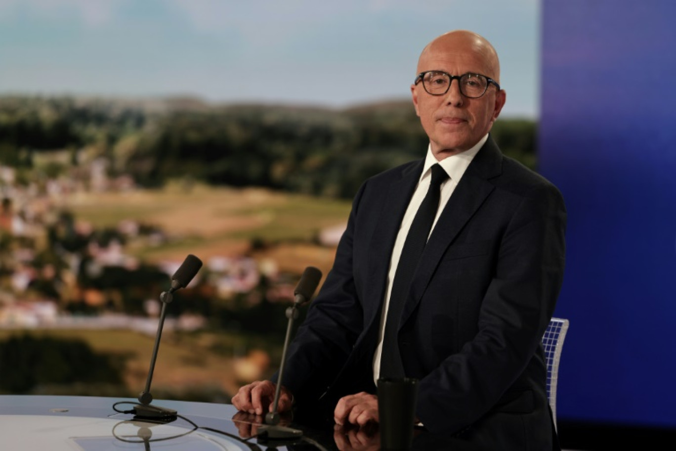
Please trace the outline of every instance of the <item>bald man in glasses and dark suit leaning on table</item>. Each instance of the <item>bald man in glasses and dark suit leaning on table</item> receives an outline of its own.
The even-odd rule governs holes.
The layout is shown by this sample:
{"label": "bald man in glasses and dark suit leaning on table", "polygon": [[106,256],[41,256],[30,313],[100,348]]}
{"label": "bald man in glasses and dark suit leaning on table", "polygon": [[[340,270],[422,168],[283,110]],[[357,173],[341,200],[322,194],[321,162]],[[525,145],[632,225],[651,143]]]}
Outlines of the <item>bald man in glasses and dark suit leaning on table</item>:
{"label": "bald man in glasses and dark suit leaning on table", "polygon": [[[406,375],[420,379],[416,417],[429,431],[486,431],[502,449],[552,449],[540,341],[562,283],[563,199],[489,136],[506,93],[488,41],[443,34],[423,49],[417,74],[411,93],[427,158],[357,193],[333,268],[289,348],[279,406],[326,408],[339,425],[365,425],[379,418],[381,372]],[[439,197],[435,223],[401,288],[407,234],[437,174],[448,179],[429,190]],[[272,381],[255,382],[233,404],[260,414],[273,395]]]}

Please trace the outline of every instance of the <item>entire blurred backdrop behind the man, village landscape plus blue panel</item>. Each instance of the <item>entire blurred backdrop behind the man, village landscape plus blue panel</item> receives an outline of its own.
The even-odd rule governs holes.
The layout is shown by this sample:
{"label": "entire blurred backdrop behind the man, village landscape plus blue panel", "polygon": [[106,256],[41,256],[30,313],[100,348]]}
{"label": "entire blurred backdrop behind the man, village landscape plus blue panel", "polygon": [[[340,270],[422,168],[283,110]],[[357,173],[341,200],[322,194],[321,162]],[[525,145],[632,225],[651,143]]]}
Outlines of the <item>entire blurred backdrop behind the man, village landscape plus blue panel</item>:
{"label": "entire blurred backdrop behind the man, village landscape plus blue panel", "polygon": [[359,185],[424,155],[418,55],[463,28],[500,55],[493,137],[569,208],[562,441],[671,434],[676,8],[634,3],[0,0],[0,393],[137,396],[187,254],[153,396],[271,375]]}

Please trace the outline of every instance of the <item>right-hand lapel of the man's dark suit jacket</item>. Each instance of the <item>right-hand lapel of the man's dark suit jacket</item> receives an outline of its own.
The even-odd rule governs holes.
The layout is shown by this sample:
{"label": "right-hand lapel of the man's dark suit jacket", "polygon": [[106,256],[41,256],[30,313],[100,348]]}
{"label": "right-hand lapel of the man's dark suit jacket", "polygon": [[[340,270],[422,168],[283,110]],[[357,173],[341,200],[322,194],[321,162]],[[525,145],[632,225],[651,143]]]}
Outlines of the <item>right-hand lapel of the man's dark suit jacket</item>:
{"label": "right-hand lapel of the man's dark suit jacket", "polygon": [[493,184],[487,179],[499,175],[501,171],[502,153],[489,137],[463,174],[429,237],[404,304],[400,327],[406,323],[423,297],[448,246],[493,191]]}

